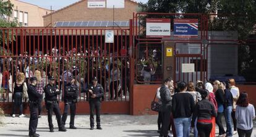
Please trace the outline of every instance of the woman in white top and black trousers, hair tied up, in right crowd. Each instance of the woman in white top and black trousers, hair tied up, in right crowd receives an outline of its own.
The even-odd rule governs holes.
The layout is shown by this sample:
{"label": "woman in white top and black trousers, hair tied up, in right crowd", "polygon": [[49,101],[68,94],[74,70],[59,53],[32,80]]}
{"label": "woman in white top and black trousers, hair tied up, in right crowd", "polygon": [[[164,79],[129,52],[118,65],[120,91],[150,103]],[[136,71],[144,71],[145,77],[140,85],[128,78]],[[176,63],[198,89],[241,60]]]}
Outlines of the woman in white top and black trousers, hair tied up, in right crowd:
{"label": "woman in white top and black trousers, hair tied up, in right crowd", "polygon": [[236,131],[236,101],[239,98],[239,88],[236,87],[236,81],[231,78],[228,80],[228,85],[229,85],[229,89],[230,92],[233,96],[233,110],[231,113],[232,119],[233,119],[233,124],[234,124],[234,132],[233,135],[236,135],[237,131]]}

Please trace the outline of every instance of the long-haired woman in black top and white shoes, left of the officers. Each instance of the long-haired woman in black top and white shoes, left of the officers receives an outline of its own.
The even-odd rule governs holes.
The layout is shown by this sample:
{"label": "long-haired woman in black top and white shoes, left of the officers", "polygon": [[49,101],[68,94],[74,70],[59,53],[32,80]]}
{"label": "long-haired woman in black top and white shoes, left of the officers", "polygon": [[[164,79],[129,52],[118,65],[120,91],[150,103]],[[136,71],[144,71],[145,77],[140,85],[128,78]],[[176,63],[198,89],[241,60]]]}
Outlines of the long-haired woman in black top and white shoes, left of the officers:
{"label": "long-haired woman in black top and white shoes, left of the officers", "polygon": [[12,117],[15,117],[15,110],[17,107],[20,109],[19,117],[24,117],[22,99],[27,99],[27,85],[25,83],[25,74],[19,72],[17,79],[14,83],[14,94],[12,99],[14,100],[14,106],[12,108]]}

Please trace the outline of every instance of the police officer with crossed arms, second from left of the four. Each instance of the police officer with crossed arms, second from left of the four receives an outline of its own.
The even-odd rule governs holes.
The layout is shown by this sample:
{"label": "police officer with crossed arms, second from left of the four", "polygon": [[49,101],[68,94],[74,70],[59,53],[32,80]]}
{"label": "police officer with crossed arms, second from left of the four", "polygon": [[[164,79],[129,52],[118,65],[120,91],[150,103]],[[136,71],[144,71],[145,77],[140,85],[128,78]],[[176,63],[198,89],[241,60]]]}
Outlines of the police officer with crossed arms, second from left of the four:
{"label": "police officer with crossed arms, second from left of the four", "polygon": [[48,123],[50,132],[54,132],[53,129],[53,112],[56,115],[59,131],[67,131],[61,122],[61,111],[59,110],[59,102],[57,95],[61,94],[58,86],[54,84],[55,80],[53,76],[49,77],[49,84],[45,86],[45,106],[48,114]]}

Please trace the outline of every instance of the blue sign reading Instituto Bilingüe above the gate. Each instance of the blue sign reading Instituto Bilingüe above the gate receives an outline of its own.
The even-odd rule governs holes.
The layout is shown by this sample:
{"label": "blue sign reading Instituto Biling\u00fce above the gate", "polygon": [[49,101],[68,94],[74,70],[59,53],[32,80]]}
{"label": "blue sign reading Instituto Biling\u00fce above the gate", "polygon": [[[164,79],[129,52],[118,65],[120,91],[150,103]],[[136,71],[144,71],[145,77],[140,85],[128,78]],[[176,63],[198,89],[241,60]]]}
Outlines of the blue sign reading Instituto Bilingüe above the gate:
{"label": "blue sign reading Instituto Biling\u00fce above the gate", "polygon": [[198,19],[174,19],[174,36],[198,36]]}

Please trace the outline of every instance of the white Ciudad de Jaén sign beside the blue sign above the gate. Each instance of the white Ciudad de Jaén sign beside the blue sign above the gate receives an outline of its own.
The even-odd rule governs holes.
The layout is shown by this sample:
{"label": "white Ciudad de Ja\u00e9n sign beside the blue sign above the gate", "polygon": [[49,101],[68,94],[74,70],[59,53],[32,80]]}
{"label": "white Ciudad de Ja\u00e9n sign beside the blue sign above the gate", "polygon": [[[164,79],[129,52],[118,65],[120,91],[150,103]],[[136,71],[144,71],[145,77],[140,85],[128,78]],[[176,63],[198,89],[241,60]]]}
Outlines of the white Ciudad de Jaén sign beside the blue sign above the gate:
{"label": "white Ciudad de Ja\u00e9n sign beside the blue sign above the gate", "polygon": [[171,36],[171,19],[146,19],[147,38],[164,38]]}

